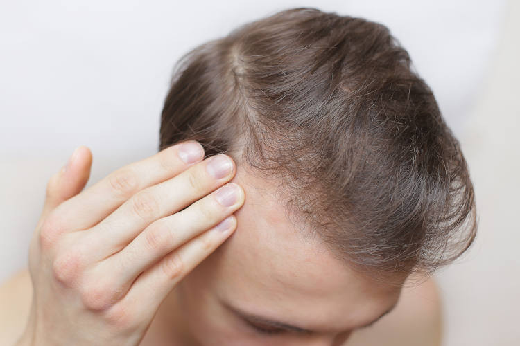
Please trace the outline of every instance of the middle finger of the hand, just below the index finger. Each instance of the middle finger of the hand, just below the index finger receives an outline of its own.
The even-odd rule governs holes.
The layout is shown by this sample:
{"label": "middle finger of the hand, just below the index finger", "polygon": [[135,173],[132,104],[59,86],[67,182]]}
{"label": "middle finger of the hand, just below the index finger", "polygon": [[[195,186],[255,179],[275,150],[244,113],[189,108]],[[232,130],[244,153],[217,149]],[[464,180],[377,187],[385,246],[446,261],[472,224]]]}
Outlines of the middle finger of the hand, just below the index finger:
{"label": "middle finger of the hand, just below the index finger", "polygon": [[[221,169],[222,174],[214,175]],[[102,260],[120,251],[153,221],[205,197],[231,180],[235,171],[233,160],[219,154],[189,167],[172,179],[141,190],[98,225],[85,231],[89,253]]]}

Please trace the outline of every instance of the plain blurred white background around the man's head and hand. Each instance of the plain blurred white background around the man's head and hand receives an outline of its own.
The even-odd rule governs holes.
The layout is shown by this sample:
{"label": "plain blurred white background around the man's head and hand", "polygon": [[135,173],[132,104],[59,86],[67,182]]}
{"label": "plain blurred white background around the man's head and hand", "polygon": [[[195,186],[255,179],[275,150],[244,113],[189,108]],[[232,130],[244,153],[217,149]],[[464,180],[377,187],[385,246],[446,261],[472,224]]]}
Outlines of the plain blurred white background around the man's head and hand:
{"label": "plain blurred white background around the man's head and hand", "polygon": [[310,6],[379,21],[408,50],[460,138],[480,229],[437,274],[445,345],[518,345],[518,1],[2,1],[0,282],[26,266],[49,177],[73,149],[89,185],[157,152],[171,69],[240,24]]}

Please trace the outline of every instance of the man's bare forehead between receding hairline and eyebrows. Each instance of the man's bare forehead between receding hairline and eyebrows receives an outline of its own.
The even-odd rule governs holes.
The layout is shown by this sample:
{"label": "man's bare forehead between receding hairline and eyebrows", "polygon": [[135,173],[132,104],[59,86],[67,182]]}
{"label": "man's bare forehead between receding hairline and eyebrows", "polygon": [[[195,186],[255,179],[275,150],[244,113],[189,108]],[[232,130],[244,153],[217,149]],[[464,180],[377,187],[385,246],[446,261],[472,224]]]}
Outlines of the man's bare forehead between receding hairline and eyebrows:
{"label": "man's bare forehead between receding hairline and eyebrows", "polygon": [[322,321],[322,329],[371,320],[395,302],[399,290],[349,270],[320,239],[302,237],[271,183],[239,165],[232,181],[245,190],[245,203],[220,251],[221,293],[228,299],[266,316],[301,321],[311,313],[313,327]]}

